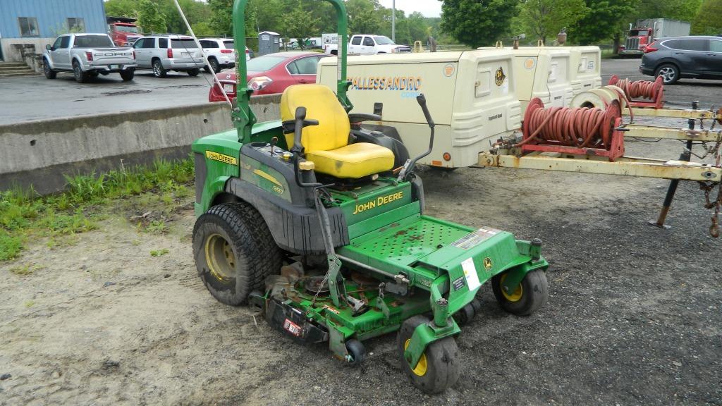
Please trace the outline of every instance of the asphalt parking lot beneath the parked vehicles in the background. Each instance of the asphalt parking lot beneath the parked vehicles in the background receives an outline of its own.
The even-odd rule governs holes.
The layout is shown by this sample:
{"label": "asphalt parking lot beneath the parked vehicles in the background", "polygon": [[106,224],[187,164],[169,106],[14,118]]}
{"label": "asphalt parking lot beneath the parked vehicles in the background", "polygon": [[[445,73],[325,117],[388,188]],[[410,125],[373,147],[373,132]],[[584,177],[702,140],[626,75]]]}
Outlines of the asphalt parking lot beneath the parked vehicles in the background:
{"label": "asphalt parking lot beneath the parked vehicles in the background", "polygon": [[[612,74],[630,79],[651,79],[640,74],[640,59],[604,59],[602,83]],[[0,79],[0,125],[24,121],[84,116],[100,113],[142,111],[149,108],[205,103],[212,76],[202,72],[197,77],[170,72],[158,79],[150,71],[136,72],[131,82],[109,74],[79,84],[71,74],[61,73],[55,80],[43,76]],[[722,104],[719,95],[722,81],[682,79],[665,87],[669,107],[689,108],[699,100],[700,108]]]}

